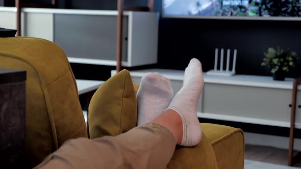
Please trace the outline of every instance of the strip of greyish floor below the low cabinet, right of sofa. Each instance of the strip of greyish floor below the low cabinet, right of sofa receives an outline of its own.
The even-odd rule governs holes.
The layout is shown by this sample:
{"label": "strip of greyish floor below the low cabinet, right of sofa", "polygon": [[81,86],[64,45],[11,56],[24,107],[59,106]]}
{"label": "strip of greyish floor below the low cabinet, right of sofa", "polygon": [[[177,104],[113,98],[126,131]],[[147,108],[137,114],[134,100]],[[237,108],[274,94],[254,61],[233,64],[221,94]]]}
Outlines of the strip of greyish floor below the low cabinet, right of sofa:
{"label": "strip of greyish floor below the low cabinet, right of sofa", "polygon": [[[254,160],[254,161],[287,165],[288,150],[277,149],[273,147],[265,147],[265,146],[245,145],[244,158],[248,160]],[[301,161],[294,166],[301,167]]]}

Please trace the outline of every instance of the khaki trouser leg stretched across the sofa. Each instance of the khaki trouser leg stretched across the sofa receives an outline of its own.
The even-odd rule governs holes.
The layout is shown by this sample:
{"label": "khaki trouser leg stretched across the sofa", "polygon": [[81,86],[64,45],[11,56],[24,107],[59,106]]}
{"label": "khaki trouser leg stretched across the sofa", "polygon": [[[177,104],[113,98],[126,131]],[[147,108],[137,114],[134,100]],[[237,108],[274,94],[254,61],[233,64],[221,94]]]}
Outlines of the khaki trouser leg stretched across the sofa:
{"label": "khaki trouser leg stretched across the sofa", "polygon": [[68,140],[35,168],[165,168],[175,149],[172,133],[149,123],[118,136]]}

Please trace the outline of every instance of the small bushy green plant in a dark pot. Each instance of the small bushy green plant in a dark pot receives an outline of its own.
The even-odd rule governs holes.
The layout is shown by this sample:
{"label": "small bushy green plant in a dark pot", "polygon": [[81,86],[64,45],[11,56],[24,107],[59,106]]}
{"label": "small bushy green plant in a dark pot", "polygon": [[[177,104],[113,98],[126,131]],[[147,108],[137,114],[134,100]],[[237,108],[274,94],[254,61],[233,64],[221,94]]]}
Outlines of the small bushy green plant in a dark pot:
{"label": "small bushy green plant in a dark pot", "polygon": [[295,67],[297,59],[294,51],[283,49],[281,46],[278,46],[277,50],[270,47],[264,52],[261,65],[270,68],[274,80],[284,80],[286,73]]}

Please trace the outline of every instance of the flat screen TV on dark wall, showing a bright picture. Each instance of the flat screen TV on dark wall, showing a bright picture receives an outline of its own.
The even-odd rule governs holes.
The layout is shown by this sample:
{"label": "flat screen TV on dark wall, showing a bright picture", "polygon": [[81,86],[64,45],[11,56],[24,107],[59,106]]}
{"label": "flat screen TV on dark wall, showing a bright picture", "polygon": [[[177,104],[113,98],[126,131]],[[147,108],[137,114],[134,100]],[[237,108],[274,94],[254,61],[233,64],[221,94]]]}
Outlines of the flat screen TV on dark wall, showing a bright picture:
{"label": "flat screen TV on dark wall, showing a bright picture", "polygon": [[300,0],[163,0],[164,17],[301,20]]}

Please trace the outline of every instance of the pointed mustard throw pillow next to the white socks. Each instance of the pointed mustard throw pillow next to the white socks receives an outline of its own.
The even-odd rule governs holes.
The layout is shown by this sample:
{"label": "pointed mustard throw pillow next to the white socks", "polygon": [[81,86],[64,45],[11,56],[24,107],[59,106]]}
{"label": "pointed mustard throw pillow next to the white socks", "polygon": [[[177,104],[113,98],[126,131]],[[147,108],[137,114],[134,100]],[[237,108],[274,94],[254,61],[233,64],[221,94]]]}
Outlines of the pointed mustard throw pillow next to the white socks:
{"label": "pointed mustard throw pillow next to the white socks", "polygon": [[115,74],[97,89],[88,115],[90,138],[115,136],[136,127],[137,101],[128,70]]}

